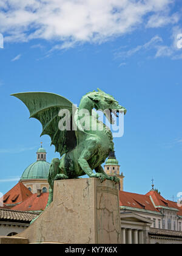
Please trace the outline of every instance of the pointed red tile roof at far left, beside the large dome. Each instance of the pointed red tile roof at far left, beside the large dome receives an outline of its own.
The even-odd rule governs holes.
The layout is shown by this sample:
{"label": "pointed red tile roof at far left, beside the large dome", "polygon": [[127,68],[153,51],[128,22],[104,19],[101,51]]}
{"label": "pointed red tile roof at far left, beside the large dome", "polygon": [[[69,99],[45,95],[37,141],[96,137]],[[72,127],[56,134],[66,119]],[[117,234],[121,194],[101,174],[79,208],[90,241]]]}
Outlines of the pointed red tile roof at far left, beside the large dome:
{"label": "pointed red tile roof at far left, beside the large dome", "polygon": [[27,199],[32,195],[32,192],[23,185],[22,182],[18,182],[11,190],[4,194],[4,205],[15,205]]}

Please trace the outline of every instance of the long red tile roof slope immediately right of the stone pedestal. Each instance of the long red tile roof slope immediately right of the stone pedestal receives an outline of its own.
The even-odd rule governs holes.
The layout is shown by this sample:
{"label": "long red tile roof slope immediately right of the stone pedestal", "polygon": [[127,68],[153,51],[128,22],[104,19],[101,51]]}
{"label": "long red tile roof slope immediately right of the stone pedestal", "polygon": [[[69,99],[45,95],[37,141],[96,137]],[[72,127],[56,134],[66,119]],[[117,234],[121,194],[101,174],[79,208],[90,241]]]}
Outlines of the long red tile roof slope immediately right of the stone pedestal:
{"label": "long red tile roof slope immediately right of the stone pedestal", "polygon": [[120,191],[120,206],[127,206],[159,212],[157,208],[153,206],[150,197],[146,194],[136,194],[126,191]]}

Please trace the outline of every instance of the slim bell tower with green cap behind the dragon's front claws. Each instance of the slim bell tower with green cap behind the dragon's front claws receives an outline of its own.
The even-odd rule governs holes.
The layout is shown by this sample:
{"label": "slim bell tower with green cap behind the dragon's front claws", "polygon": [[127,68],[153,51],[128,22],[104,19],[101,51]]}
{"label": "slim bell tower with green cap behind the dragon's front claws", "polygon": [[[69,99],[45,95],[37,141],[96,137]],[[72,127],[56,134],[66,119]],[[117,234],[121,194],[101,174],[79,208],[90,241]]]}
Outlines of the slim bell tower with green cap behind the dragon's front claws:
{"label": "slim bell tower with green cap behind the dragon's front claws", "polygon": [[118,164],[118,160],[115,157],[115,151],[109,153],[109,157],[106,160],[106,165],[104,165],[104,171],[109,176],[116,176],[120,179],[119,188],[123,191],[123,172],[120,174],[120,165]]}

